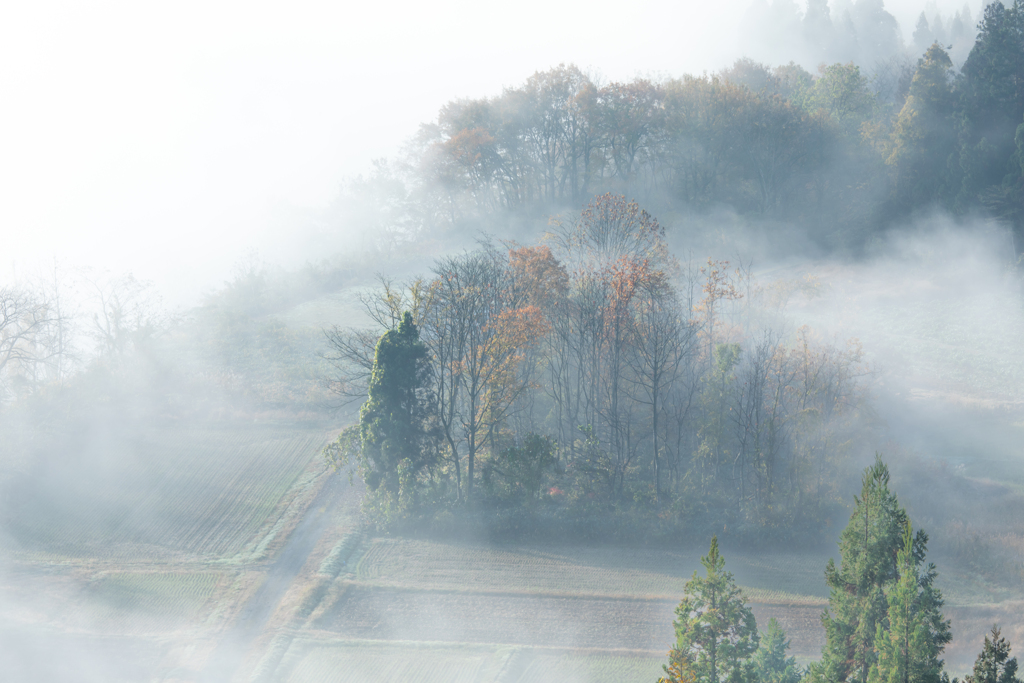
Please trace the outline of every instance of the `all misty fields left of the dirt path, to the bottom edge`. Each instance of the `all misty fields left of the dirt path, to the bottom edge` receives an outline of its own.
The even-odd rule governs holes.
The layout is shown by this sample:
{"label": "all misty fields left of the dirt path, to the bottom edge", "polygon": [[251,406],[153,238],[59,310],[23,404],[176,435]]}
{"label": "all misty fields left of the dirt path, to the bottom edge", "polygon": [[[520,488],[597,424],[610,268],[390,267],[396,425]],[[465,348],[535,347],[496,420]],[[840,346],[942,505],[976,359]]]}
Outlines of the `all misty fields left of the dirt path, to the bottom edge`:
{"label": "all misty fields left of the dirt path, to the bottom edge", "polygon": [[303,425],[112,430],[5,473],[5,680],[201,680],[329,481],[326,438]]}

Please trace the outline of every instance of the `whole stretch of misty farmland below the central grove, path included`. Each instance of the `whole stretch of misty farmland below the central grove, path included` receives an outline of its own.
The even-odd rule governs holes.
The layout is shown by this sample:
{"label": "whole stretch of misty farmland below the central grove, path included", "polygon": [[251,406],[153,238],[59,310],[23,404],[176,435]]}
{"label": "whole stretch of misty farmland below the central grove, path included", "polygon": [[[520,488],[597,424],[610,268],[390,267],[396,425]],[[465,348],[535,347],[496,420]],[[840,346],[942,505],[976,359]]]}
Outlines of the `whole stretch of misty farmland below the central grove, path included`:
{"label": "whole stretch of misty farmland below the central grove, path included", "polygon": [[[270,426],[152,432],[111,446],[115,471],[72,471],[59,501],[26,485],[0,612],[28,635],[3,638],[23,651],[59,642],[91,663],[95,676],[82,680],[104,682],[622,683],[659,673],[706,547],[367,537],[358,492],[331,483],[318,458],[324,438]],[[777,618],[791,652],[816,658],[827,553],[723,554],[759,624]],[[969,669],[993,621],[1024,640],[1024,603],[1004,589],[952,571],[940,582],[952,597],[953,673]]]}

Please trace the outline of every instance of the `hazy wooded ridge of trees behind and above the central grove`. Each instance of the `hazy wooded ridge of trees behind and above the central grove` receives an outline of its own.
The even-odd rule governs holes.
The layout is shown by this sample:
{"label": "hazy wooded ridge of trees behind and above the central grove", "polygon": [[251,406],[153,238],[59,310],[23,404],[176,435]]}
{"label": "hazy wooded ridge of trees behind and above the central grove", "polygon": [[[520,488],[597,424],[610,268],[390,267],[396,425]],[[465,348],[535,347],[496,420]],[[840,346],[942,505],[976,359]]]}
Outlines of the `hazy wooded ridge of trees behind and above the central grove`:
{"label": "hazy wooded ridge of trees behind and above the central grove", "polygon": [[833,248],[933,208],[1020,232],[1024,6],[989,5],[973,36],[959,71],[938,42],[867,72],[741,59],[715,75],[601,84],[560,66],[445,104],[401,164],[382,162],[352,187],[362,213],[348,219],[400,239],[475,229],[496,212],[579,210],[613,191],[663,218],[726,207],[792,222]]}

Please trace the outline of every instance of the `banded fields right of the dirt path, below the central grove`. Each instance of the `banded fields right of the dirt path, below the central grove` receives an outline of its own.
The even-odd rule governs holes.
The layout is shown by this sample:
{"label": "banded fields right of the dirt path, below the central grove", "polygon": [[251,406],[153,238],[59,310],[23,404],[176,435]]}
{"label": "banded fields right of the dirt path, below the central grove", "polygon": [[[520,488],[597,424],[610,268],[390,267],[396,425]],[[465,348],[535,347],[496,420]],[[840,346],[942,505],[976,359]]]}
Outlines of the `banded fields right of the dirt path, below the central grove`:
{"label": "banded fields right of the dirt path, below the central grove", "polygon": [[[702,552],[369,539],[352,551],[348,570],[323,587],[279,678],[261,680],[326,680],[332,666],[358,669],[395,643],[403,646],[383,657],[380,678],[358,669],[365,680],[387,680],[417,661],[452,680],[652,680],[672,642],[682,587]],[[723,554],[762,628],[776,618],[791,653],[802,663],[816,659],[824,644],[827,556]],[[1024,626],[1008,603],[953,602],[946,612],[954,633],[946,659],[957,674],[970,670],[992,620],[1008,634]],[[488,647],[490,659],[479,649]],[[494,664],[509,648],[518,654]],[[462,669],[451,669],[457,665]],[[411,680],[433,680],[418,676]]]}

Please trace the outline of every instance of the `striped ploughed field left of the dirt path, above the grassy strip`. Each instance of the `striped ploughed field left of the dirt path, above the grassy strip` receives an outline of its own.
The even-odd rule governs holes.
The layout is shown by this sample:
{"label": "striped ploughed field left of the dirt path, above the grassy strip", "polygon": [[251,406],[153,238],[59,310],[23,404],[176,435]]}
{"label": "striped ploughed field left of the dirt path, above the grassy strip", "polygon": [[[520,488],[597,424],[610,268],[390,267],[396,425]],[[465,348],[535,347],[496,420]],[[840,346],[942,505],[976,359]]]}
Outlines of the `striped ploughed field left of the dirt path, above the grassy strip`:
{"label": "striped ploughed field left of the dirt path, above the grassy strip", "polygon": [[254,427],[87,445],[80,467],[10,483],[10,532],[37,560],[254,561],[281,529],[286,494],[315,478],[323,441],[319,432]]}

